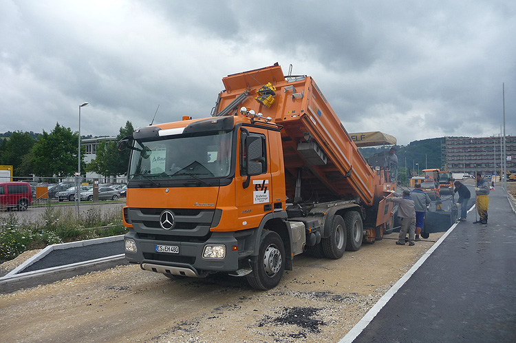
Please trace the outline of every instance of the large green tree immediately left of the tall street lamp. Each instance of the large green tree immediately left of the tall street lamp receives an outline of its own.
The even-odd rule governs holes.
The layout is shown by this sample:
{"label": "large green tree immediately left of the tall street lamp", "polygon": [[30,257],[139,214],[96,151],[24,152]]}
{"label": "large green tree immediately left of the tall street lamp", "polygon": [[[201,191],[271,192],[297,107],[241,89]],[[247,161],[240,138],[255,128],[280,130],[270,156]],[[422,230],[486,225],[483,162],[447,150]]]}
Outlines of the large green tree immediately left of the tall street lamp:
{"label": "large green tree immediately left of the tall street lamp", "polygon": [[[61,178],[71,176],[77,170],[78,134],[69,127],[56,123],[56,127],[43,134],[32,148],[32,163],[37,176],[57,175]],[[81,156],[81,166],[84,154]]]}

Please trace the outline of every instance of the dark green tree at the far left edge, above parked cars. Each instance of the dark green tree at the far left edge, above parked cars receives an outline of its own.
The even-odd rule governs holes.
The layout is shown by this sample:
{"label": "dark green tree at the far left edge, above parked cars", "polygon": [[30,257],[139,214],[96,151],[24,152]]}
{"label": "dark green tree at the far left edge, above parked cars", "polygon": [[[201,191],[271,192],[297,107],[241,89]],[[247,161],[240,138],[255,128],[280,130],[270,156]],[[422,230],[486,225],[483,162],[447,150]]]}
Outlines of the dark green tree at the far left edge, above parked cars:
{"label": "dark green tree at the far left edge, above parked cars", "polygon": [[33,145],[34,138],[28,132],[13,132],[1,147],[0,165],[12,165],[13,176],[28,176],[21,172],[20,167],[23,156],[30,152]]}

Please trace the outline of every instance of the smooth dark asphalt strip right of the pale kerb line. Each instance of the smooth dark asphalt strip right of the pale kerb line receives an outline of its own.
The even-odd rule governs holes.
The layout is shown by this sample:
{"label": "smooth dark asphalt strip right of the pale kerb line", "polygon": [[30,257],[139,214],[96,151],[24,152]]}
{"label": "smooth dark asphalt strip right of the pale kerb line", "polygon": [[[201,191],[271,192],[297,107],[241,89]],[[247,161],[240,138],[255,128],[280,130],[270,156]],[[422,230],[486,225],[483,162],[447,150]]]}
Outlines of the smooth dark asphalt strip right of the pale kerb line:
{"label": "smooth dark asphalt strip right of the pale kerb line", "polygon": [[353,342],[516,342],[516,214],[500,187],[487,225],[473,224],[475,212]]}

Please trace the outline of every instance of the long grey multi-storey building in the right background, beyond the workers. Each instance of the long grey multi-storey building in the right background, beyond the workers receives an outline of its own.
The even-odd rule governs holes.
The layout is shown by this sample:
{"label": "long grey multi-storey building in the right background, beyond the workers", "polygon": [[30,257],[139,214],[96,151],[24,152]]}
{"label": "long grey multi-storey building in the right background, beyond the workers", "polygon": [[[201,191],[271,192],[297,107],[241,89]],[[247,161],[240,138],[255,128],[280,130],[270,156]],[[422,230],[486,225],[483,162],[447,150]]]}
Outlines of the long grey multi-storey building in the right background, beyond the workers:
{"label": "long grey multi-storey building in the right background, beyond the workers", "polygon": [[[445,137],[441,146],[442,167],[453,173],[500,174],[503,168],[504,137]],[[516,136],[505,137],[506,169],[516,173]]]}

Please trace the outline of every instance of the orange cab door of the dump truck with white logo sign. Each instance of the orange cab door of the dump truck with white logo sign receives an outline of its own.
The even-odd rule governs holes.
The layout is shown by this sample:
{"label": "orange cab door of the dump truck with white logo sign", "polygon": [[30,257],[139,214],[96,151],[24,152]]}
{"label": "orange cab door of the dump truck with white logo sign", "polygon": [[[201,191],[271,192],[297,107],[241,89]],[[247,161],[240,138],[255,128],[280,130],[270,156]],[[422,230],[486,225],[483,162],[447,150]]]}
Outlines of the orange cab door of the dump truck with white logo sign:
{"label": "orange cab door of the dump truck with white logo sign", "polygon": [[272,178],[268,130],[241,127],[235,171],[235,204],[238,229],[258,227],[261,219],[272,212]]}

